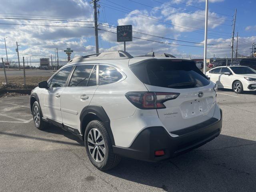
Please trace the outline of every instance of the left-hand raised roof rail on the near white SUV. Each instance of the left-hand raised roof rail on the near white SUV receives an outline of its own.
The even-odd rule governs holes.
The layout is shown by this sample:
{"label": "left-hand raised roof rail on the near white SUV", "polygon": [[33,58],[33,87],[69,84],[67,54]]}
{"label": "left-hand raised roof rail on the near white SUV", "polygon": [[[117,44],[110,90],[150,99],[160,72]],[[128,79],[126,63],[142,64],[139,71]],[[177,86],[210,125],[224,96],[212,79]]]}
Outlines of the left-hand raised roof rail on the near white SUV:
{"label": "left-hand raised roof rail on the near white SUV", "polygon": [[[95,56],[95,57],[91,57]],[[86,56],[78,56],[73,58],[70,62],[81,62],[83,60],[99,60],[99,59],[130,59],[133,58],[128,52],[125,51],[109,51],[109,52],[102,52],[96,54],[90,54]]]}

